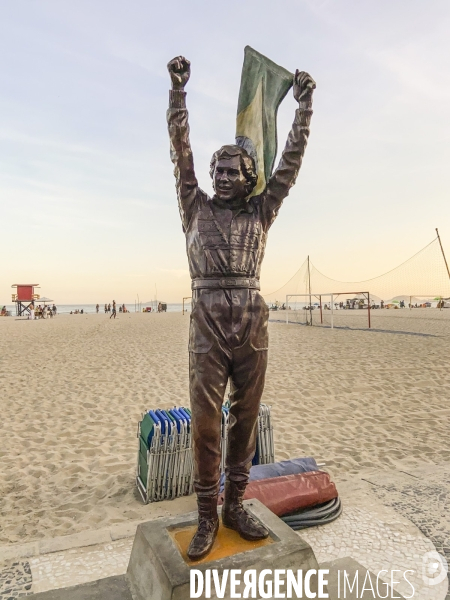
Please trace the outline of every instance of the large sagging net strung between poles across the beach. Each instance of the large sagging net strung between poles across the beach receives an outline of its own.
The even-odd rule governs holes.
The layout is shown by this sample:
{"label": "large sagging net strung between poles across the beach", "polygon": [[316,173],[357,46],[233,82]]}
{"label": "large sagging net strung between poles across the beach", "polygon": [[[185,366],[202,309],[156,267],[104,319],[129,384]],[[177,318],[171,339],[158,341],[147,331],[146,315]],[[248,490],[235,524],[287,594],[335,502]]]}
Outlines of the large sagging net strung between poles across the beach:
{"label": "large sagging net strung between poles across the beach", "polygon": [[394,269],[357,282],[324,275],[308,257],[283,287],[264,299],[271,321],[415,331],[420,325],[413,323],[436,316],[436,311],[423,309],[443,313],[450,308],[450,277],[437,236]]}

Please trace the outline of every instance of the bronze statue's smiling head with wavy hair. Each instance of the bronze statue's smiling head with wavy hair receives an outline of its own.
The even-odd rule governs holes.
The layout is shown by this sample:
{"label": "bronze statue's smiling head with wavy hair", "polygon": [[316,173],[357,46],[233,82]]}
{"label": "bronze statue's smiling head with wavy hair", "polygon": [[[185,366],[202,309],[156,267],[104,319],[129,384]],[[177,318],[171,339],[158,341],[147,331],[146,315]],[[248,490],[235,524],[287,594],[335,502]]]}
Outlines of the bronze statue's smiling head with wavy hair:
{"label": "bronze statue's smiling head with wavy hair", "polygon": [[234,144],[222,146],[213,154],[209,174],[216,196],[226,202],[248,198],[258,181],[255,161]]}

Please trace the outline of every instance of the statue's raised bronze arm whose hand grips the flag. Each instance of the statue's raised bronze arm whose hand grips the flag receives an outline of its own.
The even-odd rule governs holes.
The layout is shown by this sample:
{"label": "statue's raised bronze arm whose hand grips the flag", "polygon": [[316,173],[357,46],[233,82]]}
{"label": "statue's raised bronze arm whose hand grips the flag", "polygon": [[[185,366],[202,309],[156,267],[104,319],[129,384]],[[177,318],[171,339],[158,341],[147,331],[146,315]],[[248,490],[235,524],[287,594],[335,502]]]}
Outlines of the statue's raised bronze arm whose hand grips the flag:
{"label": "statue's raised bronze arm whose hand grips the flag", "polygon": [[286,146],[277,169],[272,174],[265,191],[261,194],[262,210],[265,216],[265,229],[269,229],[290,188],[297,179],[309,137],[312,96],[316,88],[314,79],[305,71],[297,70],[294,75],[294,98],[299,106],[289,133]]}

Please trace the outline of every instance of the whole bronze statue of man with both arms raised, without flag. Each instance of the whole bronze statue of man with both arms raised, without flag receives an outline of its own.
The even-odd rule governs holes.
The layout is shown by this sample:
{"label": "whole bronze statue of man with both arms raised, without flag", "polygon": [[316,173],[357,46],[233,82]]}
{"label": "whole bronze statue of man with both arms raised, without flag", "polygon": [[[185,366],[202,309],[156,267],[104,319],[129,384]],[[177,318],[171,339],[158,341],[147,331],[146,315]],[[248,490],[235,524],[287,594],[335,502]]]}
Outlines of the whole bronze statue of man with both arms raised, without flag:
{"label": "whole bronze statue of man with both arms raised, without flag", "polygon": [[263,192],[250,197],[257,183],[255,161],[240,146],[228,145],[212,157],[215,194],[209,198],[198,187],[189,143],[184,87],[190,63],[178,56],[168,70],[171,159],[192,278],[189,377],[199,522],[188,556],[197,560],[210,551],[219,527],[221,408],[229,379],[222,522],[248,540],[268,536],[242,506],[267,367],[269,310],[258,291],[259,275],[267,233],[301,166],[315,83],[307,73],[296,71],[294,97],[299,108],[278,168]]}

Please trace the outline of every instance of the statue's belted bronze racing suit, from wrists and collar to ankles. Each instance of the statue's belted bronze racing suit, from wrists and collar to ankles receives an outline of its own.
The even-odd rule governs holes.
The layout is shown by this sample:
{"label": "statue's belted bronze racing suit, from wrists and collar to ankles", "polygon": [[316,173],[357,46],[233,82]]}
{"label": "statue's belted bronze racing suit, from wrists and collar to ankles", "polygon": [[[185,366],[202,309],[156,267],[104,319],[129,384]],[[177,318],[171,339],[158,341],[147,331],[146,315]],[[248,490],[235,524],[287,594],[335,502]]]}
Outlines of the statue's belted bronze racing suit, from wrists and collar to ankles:
{"label": "statue's belted bronze racing suit, from wrists and collar to ankles", "polygon": [[199,186],[189,142],[186,92],[170,92],[171,159],[192,278],[189,379],[197,495],[218,491],[221,411],[231,382],[226,475],[246,482],[268,354],[269,310],[259,294],[267,234],[295,183],[312,110],[300,104],[278,168],[264,191],[236,206]]}

